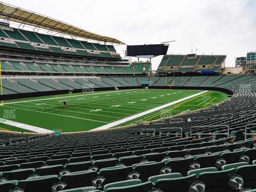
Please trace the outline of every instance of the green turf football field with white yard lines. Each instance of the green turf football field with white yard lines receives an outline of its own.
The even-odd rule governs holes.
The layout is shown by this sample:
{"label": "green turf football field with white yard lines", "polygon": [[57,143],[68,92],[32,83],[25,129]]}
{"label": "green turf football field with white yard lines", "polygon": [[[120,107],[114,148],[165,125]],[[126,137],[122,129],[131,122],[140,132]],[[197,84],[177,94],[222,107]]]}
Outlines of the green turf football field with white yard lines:
{"label": "green turf football field with white yard lines", "polygon": [[[0,118],[49,130],[86,131],[130,116],[138,116],[147,110],[202,92],[201,90],[136,89],[8,100],[0,107]],[[165,118],[188,109],[204,108],[226,99],[225,93],[208,91],[114,127]],[[63,100],[67,102],[66,108],[61,106]],[[10,110],[15,110],[15,118],[6,116]],[[8,127],[8,130],[12,128]]]}

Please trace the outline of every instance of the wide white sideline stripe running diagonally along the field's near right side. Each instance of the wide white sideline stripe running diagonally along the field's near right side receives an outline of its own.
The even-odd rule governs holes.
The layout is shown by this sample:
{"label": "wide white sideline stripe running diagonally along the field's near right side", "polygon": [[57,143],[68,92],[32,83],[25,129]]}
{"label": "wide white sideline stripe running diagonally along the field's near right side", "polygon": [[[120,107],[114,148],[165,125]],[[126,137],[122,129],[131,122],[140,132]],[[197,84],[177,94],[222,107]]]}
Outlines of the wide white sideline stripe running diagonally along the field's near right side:
{"label": "wide white sideline stripe running diagonally along the field's near right side", "polygon": [[176,100],[176,101],[174,101],[174,102],[170,102],[170,103],[168,103],[168,104],[164,104],[164,105],[162,105],[162,106],[159,106],[159,107],[156,107],[156,108],[153,108],[153,109],[150,109],[150,110],[147,110],[147,111],[141,112],[141,113],[139,113],[139,114],[136,114],[136,115],[133,115],[133,116],[130,116],[130,117],[127,117],[127,118],[124,118],[124,119],[118,120],[118,121],[116,121],[116,122],[112,122],[112,123],[109,123],[109,124],[106,124],[106,125],[100,126],[100,127],[98,127],[98,128],[92,129],[92,130],[104,130],[104,129],[108,129],[108,128],[111,128],[111,127],[113,127],[113,126],[116,126],[116,125],[122,124],[122,123],[124,123],[124,122],[130,121],[130,120],[133,120],[133,119],[135,119],[135,118],[138,118],[138,117],[144,116],[144,115],[146,115],[146,114],[149,114],[149,113],[155,112],[155,111],[160,110],[160,109],[162,109],[162,108],[166,108],[166,107],[168,107],[168,106],[171,106],[171,105],[173,105],[173,104],[179,103],[179,102],[181,102],[181,101],[184,101],[184,100],[187,100],[187,99],[193,98],[193,97],[195,97],[195,96],[198,96],[198,95],[204,94],[204,93],[206,93],[206,92],[208,92],[208,91],[206,90],[206,91],[203,91],[203,92],[196,93],[196,94],[194,94],[194,95],[190,95],[190,96],[188,96],[188,97],[185,97],[185,98],[182,98],[182,99]]}

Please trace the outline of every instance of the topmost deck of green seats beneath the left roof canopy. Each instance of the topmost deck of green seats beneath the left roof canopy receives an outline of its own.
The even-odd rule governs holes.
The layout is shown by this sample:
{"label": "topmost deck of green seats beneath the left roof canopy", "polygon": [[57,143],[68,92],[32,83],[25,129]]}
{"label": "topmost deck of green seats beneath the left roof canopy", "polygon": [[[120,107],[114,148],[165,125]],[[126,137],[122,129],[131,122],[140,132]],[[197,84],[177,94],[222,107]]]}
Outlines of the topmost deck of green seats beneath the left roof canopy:
{"label": "topmost deck of green seats beneath the left roof canopy", "polygon": [[[0,42],[0,46],[5,47],[53,52],[57,54],[72,54],[78,56],[121,58],[119,54],[116,54],[116,50],[112,45],[78,41],[70,38],[63,38],[61,36],[50,36],[47,34],[15,28],[13,28],[13,30],[0,30],[0,36],[4,38],[4,41]],[[14,40],[15,42],[9,43],[7,42],[9,40],[12,42]],[[71,51],[71,49],[73,51]],[[94,54],[92,52],[90,54],[90,51],[100,54]]]}

